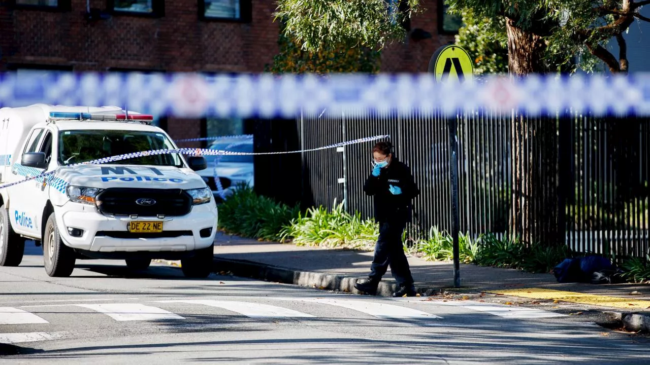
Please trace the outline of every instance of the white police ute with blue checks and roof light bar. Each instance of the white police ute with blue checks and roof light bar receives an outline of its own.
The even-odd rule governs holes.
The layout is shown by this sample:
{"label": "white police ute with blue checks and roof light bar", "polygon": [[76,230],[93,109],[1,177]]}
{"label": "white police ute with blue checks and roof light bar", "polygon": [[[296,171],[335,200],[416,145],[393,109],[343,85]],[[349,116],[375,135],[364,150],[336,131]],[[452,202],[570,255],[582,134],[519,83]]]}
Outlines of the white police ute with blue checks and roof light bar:
{"label": "white police ute with blue checks and roof light bar", "polygon": [[194,172],[205,158],[140,154],[177,148],[151,120],[119,107],[1,108],[0,266],[18,266],[30,239],[53,277],[69,276],[77,258],[126,260],[133,270],[181,260],[187,277],[207,277],[218,214]]}

